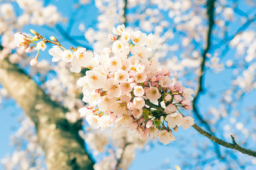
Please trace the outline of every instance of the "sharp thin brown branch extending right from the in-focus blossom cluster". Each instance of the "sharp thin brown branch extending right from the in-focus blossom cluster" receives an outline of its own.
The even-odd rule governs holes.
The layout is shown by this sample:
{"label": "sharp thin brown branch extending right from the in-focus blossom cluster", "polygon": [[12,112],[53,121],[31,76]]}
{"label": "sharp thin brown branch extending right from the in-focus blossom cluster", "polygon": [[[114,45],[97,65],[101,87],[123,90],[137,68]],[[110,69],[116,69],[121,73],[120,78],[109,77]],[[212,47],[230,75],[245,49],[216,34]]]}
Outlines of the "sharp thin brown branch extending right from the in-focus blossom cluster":
{"label": "sharp thin brown branch extending right from the in-focus blossom cluster", "polygon": [[237,150],[241,153],[244,153],[246,155],[256,157],[256,151],[249,150],[249,149],[246,149],[246,148],[243,148],[243,147],[239,146],[236,143],[235,138],[233,136],[231,136],[232,143],[228,143],[227,141],[223,141],[222,139],[216,138],[215,136],[213,136],[209,132],[204,131],[204,129],[202,129],[201,127],[199,127],[196,124],[194,124],[193,127],[194,127],[194,129],[196,129],[196,131],[200,132],[200,134],[206,136],[207,138],[209,138],[214,143],[218,143],[219,145],[224,146],[226,148],[231,148],[231,149]]}

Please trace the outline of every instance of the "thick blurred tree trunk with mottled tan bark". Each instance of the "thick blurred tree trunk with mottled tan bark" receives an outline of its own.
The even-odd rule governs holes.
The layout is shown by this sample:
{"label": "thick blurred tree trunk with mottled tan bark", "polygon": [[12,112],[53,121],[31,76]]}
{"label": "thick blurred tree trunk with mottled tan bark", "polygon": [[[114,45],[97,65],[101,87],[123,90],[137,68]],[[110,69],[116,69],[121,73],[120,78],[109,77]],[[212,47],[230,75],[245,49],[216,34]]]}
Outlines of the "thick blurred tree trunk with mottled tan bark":
{"label": "thick blurred tree trunk with mottled tan bark", "polygon": [[49,170],[93,169],[78,135],[81,120],[70,124],[65,118],[68,110],[51,101],[30,76],[7,60],[0,61],[0,82],[34,122]]}

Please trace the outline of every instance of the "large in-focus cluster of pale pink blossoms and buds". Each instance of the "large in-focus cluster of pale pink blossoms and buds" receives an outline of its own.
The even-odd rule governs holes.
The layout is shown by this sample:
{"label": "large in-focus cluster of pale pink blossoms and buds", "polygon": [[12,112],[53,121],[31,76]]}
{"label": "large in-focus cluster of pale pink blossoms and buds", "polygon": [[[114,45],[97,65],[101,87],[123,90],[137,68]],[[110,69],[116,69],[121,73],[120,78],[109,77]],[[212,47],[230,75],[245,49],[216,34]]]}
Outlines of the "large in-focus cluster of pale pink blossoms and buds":
{"label": "large in-focus cluster of pale pink blossoms and buds", "polygon": [[[49,41],[33,33],[36,41],[43,39],[36,43],[36,50],[45,50]],[[24,34],[16,36],[21,39],[19,45],[28,50],[31,40]],[[52,61],[70,62],[70,71],[76,73],[83,67],[90,69],[77,85],[83,87],[83,101],[89,104],[79,112],[92,127],[106,129],[116,124],[138,131],[141,138],[158,137],[166,145],[175,139],[172,131],[194,124],[193,118],[179,110],[191,108],[193,90],[173,82],[170,70],[159,64],[152,50],[153,34],[125,31],[124,25],[118,25],[109,34],[114,41],[111,48],[94,55],[86,48],[67,50],[51,39],[56,44],[49,50]]]}

